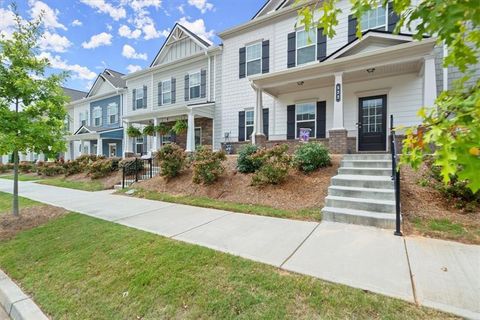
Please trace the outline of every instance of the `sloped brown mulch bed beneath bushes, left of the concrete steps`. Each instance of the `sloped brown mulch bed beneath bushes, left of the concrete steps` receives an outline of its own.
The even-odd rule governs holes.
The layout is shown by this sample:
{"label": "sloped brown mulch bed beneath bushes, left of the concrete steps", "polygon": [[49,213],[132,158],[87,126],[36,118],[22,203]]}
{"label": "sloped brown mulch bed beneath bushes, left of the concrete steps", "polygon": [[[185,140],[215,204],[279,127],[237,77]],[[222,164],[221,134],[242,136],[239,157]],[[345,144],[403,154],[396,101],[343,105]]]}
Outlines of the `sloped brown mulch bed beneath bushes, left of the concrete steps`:
{"label": "sloped brown mulch bed beneath bushes, left of the concrete steps", "polygon": [[251,186],[252,174],[237,172],[237,156],[228,156],[224,162],[225,172],[213,185],[198,185],[192,182],[192,170],[184,170],[180,176],[167,181],[155,177],[136,186],[155,192],[183,196],[204,196],[236,203],[266,205],[285,210],[322,208],[327,196],[330,179],[337,174],[340,157],[332,157],[332,166],[321,168],[305,175],[291,169],[281,185]]}

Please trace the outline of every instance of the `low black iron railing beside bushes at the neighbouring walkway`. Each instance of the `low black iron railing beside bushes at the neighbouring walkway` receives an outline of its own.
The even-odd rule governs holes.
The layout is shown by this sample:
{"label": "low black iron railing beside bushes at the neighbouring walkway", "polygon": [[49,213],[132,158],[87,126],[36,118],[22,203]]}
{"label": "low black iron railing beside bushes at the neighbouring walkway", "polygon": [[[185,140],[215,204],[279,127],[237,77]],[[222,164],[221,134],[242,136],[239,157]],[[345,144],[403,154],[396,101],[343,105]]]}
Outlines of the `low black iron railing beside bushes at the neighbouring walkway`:
{"label": "low black iron railing beside bushes at the neighbouring walkway", "polygon": [[156,158],[135,158],[122,168],[122,189],[135,182],[148,180],[160,174],[160,166]]}

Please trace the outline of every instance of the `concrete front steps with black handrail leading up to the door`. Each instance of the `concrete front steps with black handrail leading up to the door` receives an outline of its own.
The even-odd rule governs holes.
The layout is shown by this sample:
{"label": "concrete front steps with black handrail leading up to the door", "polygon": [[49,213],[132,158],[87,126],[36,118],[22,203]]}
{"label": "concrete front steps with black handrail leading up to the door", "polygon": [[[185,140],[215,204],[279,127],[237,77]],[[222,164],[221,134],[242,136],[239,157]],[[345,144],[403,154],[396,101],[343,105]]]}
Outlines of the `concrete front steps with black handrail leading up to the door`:
{"label": "concrete front steps with black handrail leading up to the door", "polygon": [[342,159],[332,178],[326,221],[395,228],[395,192],[389,154],[352,154]]}

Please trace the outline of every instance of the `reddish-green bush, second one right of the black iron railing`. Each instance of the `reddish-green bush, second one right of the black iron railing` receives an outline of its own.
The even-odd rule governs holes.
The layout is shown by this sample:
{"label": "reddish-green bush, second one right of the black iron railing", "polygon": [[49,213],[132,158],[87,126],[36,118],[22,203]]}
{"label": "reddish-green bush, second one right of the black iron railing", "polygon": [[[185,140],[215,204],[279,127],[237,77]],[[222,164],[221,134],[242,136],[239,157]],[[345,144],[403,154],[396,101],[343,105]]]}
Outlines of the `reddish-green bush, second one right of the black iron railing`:
{"label": "reddish-green bush, second one right of the black iron railing", "polygon": [[200,147],[193,158],[193,182],[212,184],[218,180],[225,168],[222,165],[227,157],[225,152],[212,150]]}

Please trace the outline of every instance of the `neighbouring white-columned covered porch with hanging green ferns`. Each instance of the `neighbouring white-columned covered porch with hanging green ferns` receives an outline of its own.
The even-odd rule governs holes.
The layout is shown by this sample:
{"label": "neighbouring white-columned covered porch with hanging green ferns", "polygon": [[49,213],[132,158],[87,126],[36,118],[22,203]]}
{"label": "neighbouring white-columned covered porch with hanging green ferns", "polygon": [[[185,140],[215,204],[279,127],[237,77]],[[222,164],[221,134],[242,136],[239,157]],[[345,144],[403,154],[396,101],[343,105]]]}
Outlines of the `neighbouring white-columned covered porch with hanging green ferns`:
{"label": "neighbouring white-columned covered porch with hanging green ferns", "polygon": [[[215,103],[192,104],[172,109],[147,111],[124,118],[124,157],[151,156],[160,150],[163,145],[176,143],[187,152],[194,152],[201,145],[213,145]],[[155,130],[153,135],[142,134],[140,137],[130,137],[127,130],[130,126],[136,127],[143,133],[148,125],[156,128],[164,124],[172,128],[177,121],[185,121],[187,128],[179,134],[169,130],[161,133]]]}

